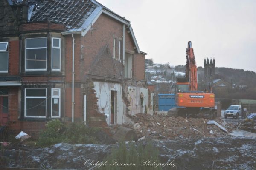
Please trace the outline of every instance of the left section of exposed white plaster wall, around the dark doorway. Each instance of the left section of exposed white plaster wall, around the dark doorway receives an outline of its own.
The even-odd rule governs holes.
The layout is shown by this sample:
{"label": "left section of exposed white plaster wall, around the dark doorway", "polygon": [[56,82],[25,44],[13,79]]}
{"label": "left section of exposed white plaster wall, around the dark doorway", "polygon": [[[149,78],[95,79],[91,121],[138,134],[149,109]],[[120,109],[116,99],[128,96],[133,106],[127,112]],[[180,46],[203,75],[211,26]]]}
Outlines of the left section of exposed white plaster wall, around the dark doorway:
{"label": "left section of exposed white plaster wall, around the dark doorway", "polygon": [[107,123],[110,125],[110,94],[111,90],[116,91],[116,123],[122,124],[125,120],[125,104],[122,100],[122,85],[110,82],[94,81],[94,90],[98,98],[99,112],[107,116]]}

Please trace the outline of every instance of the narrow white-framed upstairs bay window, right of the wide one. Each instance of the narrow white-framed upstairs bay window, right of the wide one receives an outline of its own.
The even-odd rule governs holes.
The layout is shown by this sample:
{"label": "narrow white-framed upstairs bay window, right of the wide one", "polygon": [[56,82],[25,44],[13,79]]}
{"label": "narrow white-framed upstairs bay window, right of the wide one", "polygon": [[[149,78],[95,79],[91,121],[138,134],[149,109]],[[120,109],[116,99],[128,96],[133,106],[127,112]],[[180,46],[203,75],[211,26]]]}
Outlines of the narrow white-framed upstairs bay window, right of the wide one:
{"label": "narrow white-framed upstairs bay window, right of the wide one", "polygon": [[61,71],[61,39],[52,38],[52,71]]}

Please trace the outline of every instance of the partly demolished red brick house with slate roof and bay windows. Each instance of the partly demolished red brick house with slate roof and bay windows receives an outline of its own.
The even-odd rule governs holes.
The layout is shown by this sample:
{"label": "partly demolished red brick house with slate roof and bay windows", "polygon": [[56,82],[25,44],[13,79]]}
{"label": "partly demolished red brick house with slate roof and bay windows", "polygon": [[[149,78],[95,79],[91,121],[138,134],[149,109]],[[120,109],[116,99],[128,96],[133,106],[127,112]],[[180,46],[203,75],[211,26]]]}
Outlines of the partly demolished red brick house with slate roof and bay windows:
{"label": "partly demolished red brick house with slate roof and bay windows", "polygon": [[107,127],[151,113],[130,21],[94,0],[0,1],[0,124]]}

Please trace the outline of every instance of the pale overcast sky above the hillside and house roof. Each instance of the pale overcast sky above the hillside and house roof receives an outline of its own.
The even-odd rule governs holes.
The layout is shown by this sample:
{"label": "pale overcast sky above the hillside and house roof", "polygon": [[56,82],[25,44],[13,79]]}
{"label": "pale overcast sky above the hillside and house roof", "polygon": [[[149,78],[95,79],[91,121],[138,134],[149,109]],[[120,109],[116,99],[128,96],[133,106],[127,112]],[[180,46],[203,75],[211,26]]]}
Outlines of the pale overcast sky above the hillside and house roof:
{"label": "pale overcast sky above the hillside and house roof", "polygon": [[131,21],[140,50],[155,63],[185,65],[192,41],[198,66],[256,71],[256,0],[98,0]]}

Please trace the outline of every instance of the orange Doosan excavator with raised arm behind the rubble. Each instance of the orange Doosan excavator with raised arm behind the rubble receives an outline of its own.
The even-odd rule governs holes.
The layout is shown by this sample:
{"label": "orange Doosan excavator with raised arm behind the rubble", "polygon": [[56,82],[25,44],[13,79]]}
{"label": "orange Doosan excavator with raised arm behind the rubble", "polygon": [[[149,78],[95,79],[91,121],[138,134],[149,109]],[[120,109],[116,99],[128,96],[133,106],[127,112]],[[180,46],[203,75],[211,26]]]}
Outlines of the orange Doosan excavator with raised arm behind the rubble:
{"label": "orange Doosan excavator with raised arm behind the rubble", "polygon": [[214,119],[216,116],[213,93],[198,91],[197,66],[191,41],[186,48],[186,74],[178,78],[175,85],[177,107],[168,111],[168,116],[196,116]]}

